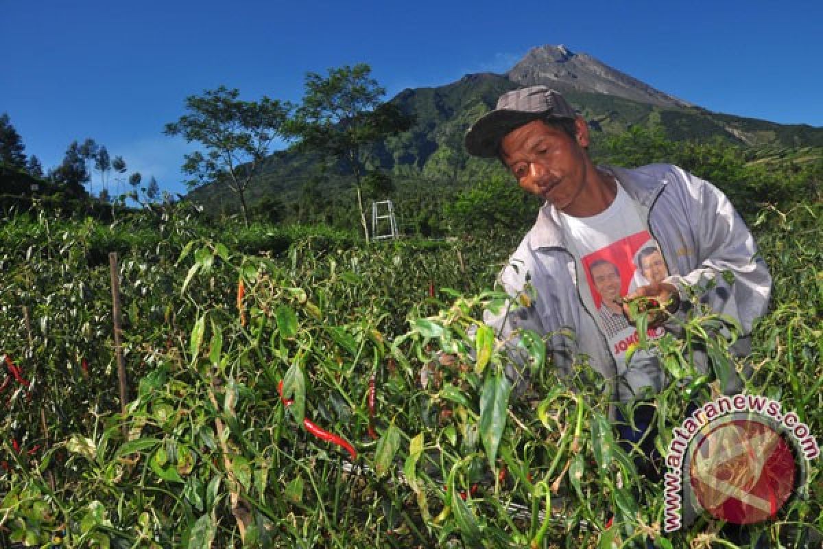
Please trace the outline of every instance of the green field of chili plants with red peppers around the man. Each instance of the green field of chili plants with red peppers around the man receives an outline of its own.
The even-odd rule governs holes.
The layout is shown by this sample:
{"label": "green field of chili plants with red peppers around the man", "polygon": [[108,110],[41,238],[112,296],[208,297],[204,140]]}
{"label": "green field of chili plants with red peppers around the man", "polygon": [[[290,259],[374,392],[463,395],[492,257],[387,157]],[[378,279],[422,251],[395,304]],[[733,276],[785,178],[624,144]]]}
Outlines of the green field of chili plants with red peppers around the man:
{"label": "green field of chili plants with red peppers around the man", "polygon": [[[526,334],[532,383],[512,395],[481,315],[502,306],[495,274],[519,235],[243,240],[195,213],[3,221],[0,547],[737,547],[709,517],[663,533],[663,485],[616,444],[584,356],[560,381]],[[818,436],[821,216],[750,220],[774,293],[746,388]],[[695,302],[685,328],[740,366],[719,322]],[[665,449],[686,385],[710,398],[715,384],[682,342],[654,344],[676,380],[656,398]],[[753,531],[804,547],[823,528],[819,463],[808,481]]]}

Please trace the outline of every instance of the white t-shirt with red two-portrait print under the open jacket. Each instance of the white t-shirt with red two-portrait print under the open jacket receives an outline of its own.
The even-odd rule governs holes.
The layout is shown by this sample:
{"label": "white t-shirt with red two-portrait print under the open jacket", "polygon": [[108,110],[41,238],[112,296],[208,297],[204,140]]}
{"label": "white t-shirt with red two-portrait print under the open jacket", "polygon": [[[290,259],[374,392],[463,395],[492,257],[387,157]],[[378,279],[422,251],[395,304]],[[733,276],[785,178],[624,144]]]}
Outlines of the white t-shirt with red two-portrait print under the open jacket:
{"label": "white t-shirt with red two-portrait print under the open jacket", "polygon": [[[638,286],[648,284],[644,266],[659,254],[658,244],[649,235],[631,198],[617,184],[617,194],[604,212],[591,217],[574,217],[560,212],[560,223],[583,265],[578,274],[578,291],[588,292],[590,311],[609,343],[619,370],[625,352],[637,342],[637,330],[622,313],[620,298]],[[651,254],[651,255],[649,255]],[[643,257],[644,260],[640,260]],[[645,271],[649,273],[647,269]],[[649,337],[660,337],[663,328],[650,329]]]}

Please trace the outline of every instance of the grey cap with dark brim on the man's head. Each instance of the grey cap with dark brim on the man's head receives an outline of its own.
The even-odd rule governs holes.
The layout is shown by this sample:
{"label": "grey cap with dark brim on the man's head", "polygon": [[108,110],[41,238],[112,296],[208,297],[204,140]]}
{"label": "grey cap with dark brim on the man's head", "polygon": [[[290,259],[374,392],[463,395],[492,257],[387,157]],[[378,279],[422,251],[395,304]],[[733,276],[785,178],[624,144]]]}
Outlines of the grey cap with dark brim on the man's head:
{"label": "grey cap with dark brim on the man's head", "polygon": [[497,156],[500,142],[512,130],[538,119],[574,120],[577,113],[563,95],[546,86],[507,91],[497,108],[477,120],[466,133],[466,150],[472,156]]}

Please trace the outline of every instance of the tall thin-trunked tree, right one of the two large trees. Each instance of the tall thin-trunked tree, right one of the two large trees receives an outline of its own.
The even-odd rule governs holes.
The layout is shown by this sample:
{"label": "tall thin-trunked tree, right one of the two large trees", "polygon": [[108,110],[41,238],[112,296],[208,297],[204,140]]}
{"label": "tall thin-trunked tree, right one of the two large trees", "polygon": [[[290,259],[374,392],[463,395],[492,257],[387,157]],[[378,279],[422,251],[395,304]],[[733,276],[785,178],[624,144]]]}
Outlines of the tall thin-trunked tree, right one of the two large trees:
{"label": "tall thin-trunked tree, right one of the two large trees", "polygon": [[332,156],[354,175],[360,223],[367,241],[369,227],[362,193],[366,148],[412,125],[412,119],[396,105],[380,100],[386,91],[370,74],[371,67],[365,63],[329,69],[328,77],[309,72],[303,104],[288,131],[297,139],[295,148]]}

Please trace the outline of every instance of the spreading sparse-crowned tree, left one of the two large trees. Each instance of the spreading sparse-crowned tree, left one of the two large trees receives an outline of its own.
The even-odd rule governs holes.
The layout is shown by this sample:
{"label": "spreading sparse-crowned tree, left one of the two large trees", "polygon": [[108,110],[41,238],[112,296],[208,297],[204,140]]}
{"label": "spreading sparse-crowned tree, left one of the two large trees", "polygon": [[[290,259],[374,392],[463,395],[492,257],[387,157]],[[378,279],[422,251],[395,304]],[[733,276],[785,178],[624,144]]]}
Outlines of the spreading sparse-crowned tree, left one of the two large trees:
{"label": "spreading sparse-crowned tree, left one of the two large trees", "polygon": [[182,135],[187,142],[198,142],[206,149],[185,155],[183,170],[194,176],[189,188],[213,183],[226,185],[237,195],[243,219],[249,226],[245,193],[263,167],[269,147],[283,136],[290,105],[267,96],[259,101],[239,100],[239,91],[220,86],[203,95],[186,99],[188,114],[165,125],[166,135]]}

